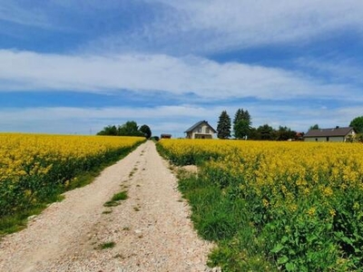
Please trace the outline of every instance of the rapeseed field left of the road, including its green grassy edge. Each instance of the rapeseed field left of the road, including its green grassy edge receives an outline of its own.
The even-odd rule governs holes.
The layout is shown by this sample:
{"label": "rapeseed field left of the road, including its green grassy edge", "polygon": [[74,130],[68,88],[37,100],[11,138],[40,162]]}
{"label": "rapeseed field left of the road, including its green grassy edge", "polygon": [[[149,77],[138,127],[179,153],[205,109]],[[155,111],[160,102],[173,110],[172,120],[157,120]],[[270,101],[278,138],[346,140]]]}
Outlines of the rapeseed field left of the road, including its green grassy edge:
{"label": "rapeseed field left of the road, including its green grassy edge", "polygon": [[0,235],[25,228],[61,194],[91,182],[144,137],[0,134]]}

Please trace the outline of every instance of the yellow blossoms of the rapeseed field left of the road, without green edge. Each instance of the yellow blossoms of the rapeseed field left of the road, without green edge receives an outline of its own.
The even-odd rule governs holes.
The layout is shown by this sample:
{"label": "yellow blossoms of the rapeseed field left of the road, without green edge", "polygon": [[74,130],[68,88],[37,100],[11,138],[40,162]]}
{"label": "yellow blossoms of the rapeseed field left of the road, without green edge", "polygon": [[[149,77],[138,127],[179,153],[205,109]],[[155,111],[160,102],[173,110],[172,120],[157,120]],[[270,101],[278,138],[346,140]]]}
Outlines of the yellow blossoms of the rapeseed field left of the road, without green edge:
{"label": "yellow blossoms of the rapeseed field left of the road, without green edge", "polygon": [[0,133],[0,184],[26,175],[46,174],[54,161],[87,160],[131,147],[139,137],[64,136]]}

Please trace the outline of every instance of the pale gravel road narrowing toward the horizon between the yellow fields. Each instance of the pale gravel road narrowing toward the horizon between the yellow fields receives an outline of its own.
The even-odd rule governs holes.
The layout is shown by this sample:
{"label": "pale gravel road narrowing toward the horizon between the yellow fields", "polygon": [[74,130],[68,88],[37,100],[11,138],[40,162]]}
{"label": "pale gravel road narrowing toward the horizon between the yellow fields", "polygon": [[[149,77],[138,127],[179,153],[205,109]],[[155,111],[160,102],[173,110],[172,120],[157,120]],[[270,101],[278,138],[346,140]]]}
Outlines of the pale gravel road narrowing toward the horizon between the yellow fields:
{"label": "pale gravel road narrowing toward the horizon between the yellow fields", "polygon": [[[128,199],[103,207],[121,190]],[[152,141],[64,195],[0,242],[0,271],[211,271],[211,244],[192,229],[189,206]],[[106,243],[113,248],[102,249]]]}

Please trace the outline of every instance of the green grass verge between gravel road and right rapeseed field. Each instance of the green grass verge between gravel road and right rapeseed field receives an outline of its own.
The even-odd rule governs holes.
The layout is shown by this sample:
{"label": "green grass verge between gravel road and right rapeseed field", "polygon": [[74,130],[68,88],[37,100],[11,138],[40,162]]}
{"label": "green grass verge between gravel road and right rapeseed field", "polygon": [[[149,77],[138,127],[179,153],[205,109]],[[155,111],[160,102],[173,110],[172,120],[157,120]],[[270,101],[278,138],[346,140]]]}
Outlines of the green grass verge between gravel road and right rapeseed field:
{"label": "green grass verge between gravel road and right rapeseed field", "polygon": [[264,256],[265,246],[255,239],[255,228],[241,212],[246,203],[233,198],[208,179],[196,175],[179,176],[179,189],[191,205],[191,220],[201,238],[218,247],[210,254],[209,266],[222,271],[277,271]]}

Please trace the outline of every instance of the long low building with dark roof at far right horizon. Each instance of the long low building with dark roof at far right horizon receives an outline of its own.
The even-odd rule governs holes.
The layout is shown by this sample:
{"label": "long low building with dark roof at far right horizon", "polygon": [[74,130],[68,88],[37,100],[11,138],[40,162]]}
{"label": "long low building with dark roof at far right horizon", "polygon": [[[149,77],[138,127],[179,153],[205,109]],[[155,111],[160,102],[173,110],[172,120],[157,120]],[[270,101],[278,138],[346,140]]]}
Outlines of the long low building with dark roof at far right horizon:
{"label": "long low building with dark roof at far right horizon", "polygon": [[356,131],[351,127],[310,130],[304,135],[304,141],[347,141],[355,135]]}

